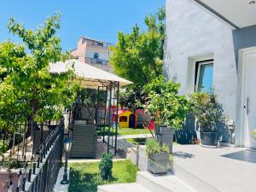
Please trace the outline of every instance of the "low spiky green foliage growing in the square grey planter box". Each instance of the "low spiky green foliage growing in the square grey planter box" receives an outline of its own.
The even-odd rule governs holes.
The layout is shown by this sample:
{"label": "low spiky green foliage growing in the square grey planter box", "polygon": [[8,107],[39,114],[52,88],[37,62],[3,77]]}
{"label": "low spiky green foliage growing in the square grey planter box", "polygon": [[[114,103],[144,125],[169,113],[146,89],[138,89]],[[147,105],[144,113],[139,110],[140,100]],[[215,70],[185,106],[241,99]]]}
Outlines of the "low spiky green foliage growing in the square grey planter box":
{"label": "low spiky green foliage growing in the square grey planter box", "polygon": [[165,145],[160,145],[155,139],[148,139],[146,142],[147,155],[159,154],[160,152],[169,152],[169,149]]}

